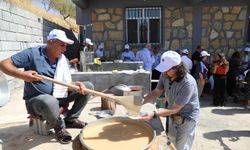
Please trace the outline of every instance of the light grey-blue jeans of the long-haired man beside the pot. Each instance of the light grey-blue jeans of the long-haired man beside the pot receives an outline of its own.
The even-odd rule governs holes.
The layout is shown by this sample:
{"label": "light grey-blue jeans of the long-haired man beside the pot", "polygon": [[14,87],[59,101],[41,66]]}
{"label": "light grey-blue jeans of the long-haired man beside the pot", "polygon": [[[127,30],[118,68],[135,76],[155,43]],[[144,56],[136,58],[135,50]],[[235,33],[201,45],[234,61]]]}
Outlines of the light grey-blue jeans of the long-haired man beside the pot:
{"label": "light grey-blue jeans of the long-haired man beside the pot", "polygon": [[177,150],[191,150],[195,136],[196,122],[185,119],[184,123],[178,125],[170,120],[169,136]]}

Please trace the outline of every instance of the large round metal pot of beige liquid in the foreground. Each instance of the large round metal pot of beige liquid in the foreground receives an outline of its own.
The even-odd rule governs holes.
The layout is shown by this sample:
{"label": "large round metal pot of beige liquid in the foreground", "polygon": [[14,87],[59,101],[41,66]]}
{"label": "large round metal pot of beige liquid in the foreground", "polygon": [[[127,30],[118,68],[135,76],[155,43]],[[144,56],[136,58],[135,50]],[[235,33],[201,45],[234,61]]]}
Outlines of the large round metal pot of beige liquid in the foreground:
{"label": "large round metal pot of beige liquid in the foreground", "polygon": [[[128,133],[128,130],[126,130],[126,128],[124,128],[123,126],[122,126],[122,128],[120,130],[116,130],[115,133],[112,132],[113,134],[115,134],[115,137],[117,137],[117,138],[113,138],[113,139],[105,138],[105,137],[107,137],[106,136],[107,132],[110,131],[108,129],[113,129],[116,126],[116,125],[105,126],[105,124],[117,123],[117,122],[119,124],[122,124],[122,125],[130,125],[131,124],[131,126],[139,127],[139,129],[142,129],[143,132],[146,132],[146,135],[147,135],[146,137],[148,137],[149,140],[148,140],[147,145],[141,146],[140,150],[148,149],[152,145],[152,143],[154,142],[155,137],[156,137],[156,133],[153,130],[153,128],[150,125],[148,125],[146,122],[130,119],[128,117],[120,117],[120,116],[118,117],[117,116],[117,117],[109,117],[109,118],[99,119],[99,120],[93,121],[90,124],[88,124],[87,126],[85,126],[83,128],[83,130],[81,131],[80,135],[79,135],[79,140],[80,140],[80,142],[82,144],[83,149],[99,150],[99,149],[94,148],[93,145],[88,145],[87,142],[86,142],[87,138],[96,140],[95,145],[102,145],[103,146],[102,149],[110,149],[110,150],[114,149],[114,147],[106,147],[105,148],[105,144],[102,141],[103,139],[107,139],[108,141],[113,142],[112,144],[114,145],[114,143],[116,143],[116,142],[124,142],[124,141],[127,142],[126,140],[131,140],[131,139],[138,138],[138,134],[131,134],[132,135],[131,139],[127,139],[127,137],[123,138],[122,135],[124,135],[124,133],[130,135]],[[93,136],[93,137],[87,137],[86,138],[86,136],[87,136],[86,133],[87,132],[90,132],[90,131],[93,131],[93,130],[98,131],[98,127],[102,127],[101,128],[102,130],[100,130],[100,133],[98,134],[98,136]],[[117,128],[115,128],[115,129],[117,129]],[[140,135],[140,133],[139,133],[139,135]],[[129,142],[131,142],[131,141],[129,141]],[[120,144],[120,143],[116,143],[116,144]],[[119,149],[124,149],[124,148],[126,149],[128,147],[121,147]]]}

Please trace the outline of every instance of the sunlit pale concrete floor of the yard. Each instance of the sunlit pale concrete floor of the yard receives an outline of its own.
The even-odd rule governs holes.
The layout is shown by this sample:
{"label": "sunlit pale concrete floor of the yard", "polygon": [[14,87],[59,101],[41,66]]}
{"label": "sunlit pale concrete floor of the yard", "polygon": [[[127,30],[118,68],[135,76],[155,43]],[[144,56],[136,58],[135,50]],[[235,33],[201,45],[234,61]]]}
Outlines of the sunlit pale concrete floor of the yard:
{"label": "sunlit pale concrete floor of the yard", "polygon": [[[212,107],[211,95],[201,99],[201,115],[197,127],[193,150],[249,150],[250,148],[250,110],[242,103],[228,100],[226,107]],[[96,120],[91,111],[100,110],[100,98],[89,101],[80,119],[91,122]],[[0,107],[0,150],[70,150],[72,144],[62,145],[55,136],[34,134],[28,127],[28,119],[22,88],[11,93],[11,101]],[[72,137],[80,133],[80,129],[69,129]],[[164,140],[162,140],[164,141]],[[166,150],[162,142],[159,150]]]}

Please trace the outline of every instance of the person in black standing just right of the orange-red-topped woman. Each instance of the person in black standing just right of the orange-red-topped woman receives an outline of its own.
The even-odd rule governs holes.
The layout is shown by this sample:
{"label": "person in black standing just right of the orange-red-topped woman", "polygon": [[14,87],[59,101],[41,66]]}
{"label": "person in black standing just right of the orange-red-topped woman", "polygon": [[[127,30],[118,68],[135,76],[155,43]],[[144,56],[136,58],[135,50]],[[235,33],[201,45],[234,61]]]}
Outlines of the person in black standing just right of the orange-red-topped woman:
{"label": "person in black standing just right of the orange-red-topped woman", "polygon": [[234,97],[234,101],[237,101],[237,80],[239,80],[241,66],[240,52],[233,53],[229,60],[229,71],[227,73],[227,94]]}

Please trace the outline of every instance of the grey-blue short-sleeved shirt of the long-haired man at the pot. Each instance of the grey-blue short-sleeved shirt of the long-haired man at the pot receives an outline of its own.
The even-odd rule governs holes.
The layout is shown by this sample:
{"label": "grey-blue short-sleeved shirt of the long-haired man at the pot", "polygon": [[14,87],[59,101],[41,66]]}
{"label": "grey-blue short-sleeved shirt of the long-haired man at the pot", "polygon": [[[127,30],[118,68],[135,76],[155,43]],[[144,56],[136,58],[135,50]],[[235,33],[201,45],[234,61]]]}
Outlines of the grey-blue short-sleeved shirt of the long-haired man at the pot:
{"label": "grey-blue short-sleeved shirt of the long-haired man at the pot", "polygon": [[182,106],[178,114],[197,122],[200,112],[198,89],[195,79],[189,73],[179,82],[173,81],[172,83],[161,75],[157,89],[165,90],[169,102],[168,108],[176,103]]}

